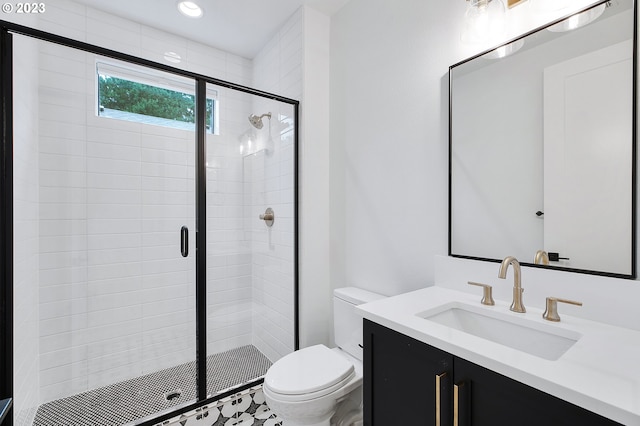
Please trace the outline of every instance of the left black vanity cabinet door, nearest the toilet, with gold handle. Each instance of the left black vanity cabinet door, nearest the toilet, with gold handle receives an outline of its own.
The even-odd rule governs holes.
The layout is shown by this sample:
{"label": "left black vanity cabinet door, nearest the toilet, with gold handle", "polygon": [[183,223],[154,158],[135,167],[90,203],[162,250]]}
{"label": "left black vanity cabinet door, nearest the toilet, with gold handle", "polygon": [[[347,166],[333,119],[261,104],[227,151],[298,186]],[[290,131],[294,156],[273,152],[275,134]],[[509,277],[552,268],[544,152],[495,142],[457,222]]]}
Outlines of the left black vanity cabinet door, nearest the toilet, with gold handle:
{"label": "left black vanity cabinet door, nearest the toilet, with gold handle", "polygon": [[365,426],[450,425],[452,360],[444,351],[364,320]]}

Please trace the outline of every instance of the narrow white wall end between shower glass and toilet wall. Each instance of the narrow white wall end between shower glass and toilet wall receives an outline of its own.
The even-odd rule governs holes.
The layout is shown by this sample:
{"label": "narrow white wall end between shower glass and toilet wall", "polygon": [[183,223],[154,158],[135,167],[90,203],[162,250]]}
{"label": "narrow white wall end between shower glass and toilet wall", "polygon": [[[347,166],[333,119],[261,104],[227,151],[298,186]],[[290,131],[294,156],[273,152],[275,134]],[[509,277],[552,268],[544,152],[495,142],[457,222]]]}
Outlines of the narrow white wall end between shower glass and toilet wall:
{"label": "narrow white wall end between shower glass and toilet wall", "polygon": [[300,346],[333,339],[330,261],[330,20],[304,9],[300,152]]}

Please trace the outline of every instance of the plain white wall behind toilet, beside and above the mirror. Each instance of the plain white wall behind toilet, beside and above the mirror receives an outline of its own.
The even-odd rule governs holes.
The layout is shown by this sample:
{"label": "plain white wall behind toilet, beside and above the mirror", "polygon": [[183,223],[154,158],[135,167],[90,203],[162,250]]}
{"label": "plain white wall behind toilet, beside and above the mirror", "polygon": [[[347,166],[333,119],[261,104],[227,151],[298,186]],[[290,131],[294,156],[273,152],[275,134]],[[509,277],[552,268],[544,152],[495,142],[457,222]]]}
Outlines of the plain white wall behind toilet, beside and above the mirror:
{"label": "plain white wall behind toilet, beside and above the mirror", "polygon": [[351,0],[332,16],[333,283],[386,295],[434,283],[434,255],[447,254],[448,68],[569,12],[531,3],[476,45],[460,41],[464,1]]}

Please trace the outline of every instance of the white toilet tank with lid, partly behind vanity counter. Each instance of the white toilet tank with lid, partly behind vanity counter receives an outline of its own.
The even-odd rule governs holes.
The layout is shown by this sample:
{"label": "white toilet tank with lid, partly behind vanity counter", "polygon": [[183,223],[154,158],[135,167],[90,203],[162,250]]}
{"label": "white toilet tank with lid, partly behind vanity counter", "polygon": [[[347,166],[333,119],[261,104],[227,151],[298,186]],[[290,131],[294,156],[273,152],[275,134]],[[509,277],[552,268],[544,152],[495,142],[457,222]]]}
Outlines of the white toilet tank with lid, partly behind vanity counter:
{"label": "white toilet tank with lid, partly behind vanity counter", "polygon": [[333,331],[340,349],[362,360],[362,315],[356,312],[355,306],[384,298],[356,287],[333,291]]}

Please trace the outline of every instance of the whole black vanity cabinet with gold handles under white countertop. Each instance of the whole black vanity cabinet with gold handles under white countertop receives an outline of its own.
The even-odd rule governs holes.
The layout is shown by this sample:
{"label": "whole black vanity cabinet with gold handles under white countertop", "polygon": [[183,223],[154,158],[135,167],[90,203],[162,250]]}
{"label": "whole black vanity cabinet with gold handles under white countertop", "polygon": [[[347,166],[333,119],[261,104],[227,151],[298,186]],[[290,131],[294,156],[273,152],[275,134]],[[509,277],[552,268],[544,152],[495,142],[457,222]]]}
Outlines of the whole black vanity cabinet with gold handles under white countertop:
{"label": "whole black vanity cabinet with gold handles under white countertop", "polygon": [[364,424],[619,423],[364,320]]}

